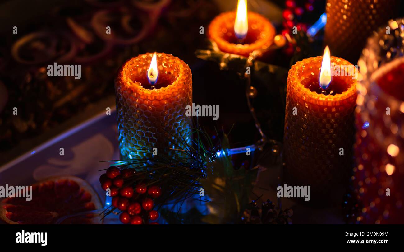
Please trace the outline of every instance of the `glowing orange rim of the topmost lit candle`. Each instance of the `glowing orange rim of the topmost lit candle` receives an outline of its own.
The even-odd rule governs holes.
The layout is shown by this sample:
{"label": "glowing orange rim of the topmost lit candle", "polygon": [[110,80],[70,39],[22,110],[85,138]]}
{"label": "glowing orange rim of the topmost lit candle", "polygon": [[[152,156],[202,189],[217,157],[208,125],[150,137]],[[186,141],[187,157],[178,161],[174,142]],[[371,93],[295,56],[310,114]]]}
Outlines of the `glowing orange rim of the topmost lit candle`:
{"label": "glowing orange rim of the topmost lit candle", "polygon": [[[269,36],[266,38],[258,38],[255,40],[255,42],[251,44],[234,44],[231,43],[225,39],[223,39],[220,34],[223,34],[221,30],[221,25],[229,20],[230,23],[233,24],[233,28],[231,28],[231,32],[234,32],[234,20],[236,19],[236,11],[226,11],[224,13],[221,13],[217,15],[209,24],[208,27],[208,37],[215,41],[219,48],[223,50],[223,48],[228,47],[228,50],[223,50],[223,51],[234,51],[235,54],[248,54],[252,51],[255,50],[266,50],[268,47],[270,47],[272,44],[274,44],[274,37],[276,35],[276,30],[274,25],[264,17],[263,15],[253,12],[253,11],[247,11],[248,16],[248,30],[251,30],[252,27],[251,25],[254,24],[254,20],[260,19],[263,20],[263,25],[265,30],[262,30],[260,34],[267,33]],[[253,29],[254,30],[254,29]]]}

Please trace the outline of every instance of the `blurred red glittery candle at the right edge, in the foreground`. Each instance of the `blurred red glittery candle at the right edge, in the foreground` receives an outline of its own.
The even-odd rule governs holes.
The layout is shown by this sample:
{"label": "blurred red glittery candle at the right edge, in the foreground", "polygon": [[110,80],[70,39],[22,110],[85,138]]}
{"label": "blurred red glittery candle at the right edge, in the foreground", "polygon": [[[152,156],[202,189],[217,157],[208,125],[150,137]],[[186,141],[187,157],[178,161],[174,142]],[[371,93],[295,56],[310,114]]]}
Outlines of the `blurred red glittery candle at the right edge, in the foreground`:
{"label": "blurred red glittery candle at the right edge, in the foreground", "polygon": [[404,58],[400,61],[377,69],[376,74],[387,72],[375,81],[358,83],[353,185],[362,203],[358,221],[366,224],[404,224]]}

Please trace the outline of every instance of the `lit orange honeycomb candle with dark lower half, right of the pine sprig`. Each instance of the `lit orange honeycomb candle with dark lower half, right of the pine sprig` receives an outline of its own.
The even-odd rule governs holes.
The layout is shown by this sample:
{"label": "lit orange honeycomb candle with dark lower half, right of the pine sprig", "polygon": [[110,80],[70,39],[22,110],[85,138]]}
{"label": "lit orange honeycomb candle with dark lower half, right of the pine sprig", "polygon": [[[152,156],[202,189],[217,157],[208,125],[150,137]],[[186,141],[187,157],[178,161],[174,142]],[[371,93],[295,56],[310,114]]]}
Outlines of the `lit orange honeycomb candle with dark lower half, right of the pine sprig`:
{"label": "lit orange honeycomb candle with dark lower half, right of the pine sprig", "polygon": [[[329,191],[352,169],[356,80],[352,76],[332,76],[328,88],[344,90],[342,93],[311,91],[307,83],[318,82],[321,62],[322,57],[311,57],[293,65],[286,90],[286,179],[295,186],[311,186],[312,192]],[[331,62],[352,66],[338,57],[331,57]],[[344,155],[339,155],[340,148]]]}

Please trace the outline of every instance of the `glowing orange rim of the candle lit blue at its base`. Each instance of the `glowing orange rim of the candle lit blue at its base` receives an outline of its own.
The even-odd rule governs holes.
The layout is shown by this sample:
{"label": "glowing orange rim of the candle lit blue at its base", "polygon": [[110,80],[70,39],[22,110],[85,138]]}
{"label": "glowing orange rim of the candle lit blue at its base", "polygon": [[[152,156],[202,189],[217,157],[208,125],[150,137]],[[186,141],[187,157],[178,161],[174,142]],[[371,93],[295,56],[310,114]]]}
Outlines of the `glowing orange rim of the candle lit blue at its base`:
{"label": "glowing orange rim of the candle lit blue at its base", "polygon": [[[176,57],[172,54],[168,54],[168,53],[158,53],[157,52],[157,57],[168,57],[168,58],[172,58],[175,61],[176,67],[178,69],[181,68],[185,68],[185,71],[178,71],[178,76],[174,76],[175,80],[170,83],[169,85],[167,85],[166,87],[161,87],[161,88],[156,88],[156,89],[147,89],[145,87],[143,87],[141,85],[141,83],[139,81],[133,81],[130,76],[126,76],[126,71],[124,71],[124,69],[128,68],[129,64],[133,63],[135,61],[135,59],[139,58],[139,57],[150,57],[150,61],[151,58],[153,57],[153,53],[143,53],[143,54],[139,54],[136,57],[132,57],[130,59],[128,59],[120,68],[119,70],[119,74],[118,74],[118,78],[122,81],[122,83],[124,83],[124,85],[126,85],[127,87],[131,87],[131,88],[136,88],[139,89],[143,92],[148,92],[148,93],[160,93],[160,92],[164,92],[170,89],[170,87],[177,85],[181,80],[183,80],[183,78],[185,78],[184,73],[185,72],[189,72],[191,75],[191,69],[189,68],[188,64],[186,64],[183,60],[181,60],[179,57]],[[150,61],[147,61],[147,66],[149,66]],[[147,75],[147,70],[146,70],[146,75]]]}

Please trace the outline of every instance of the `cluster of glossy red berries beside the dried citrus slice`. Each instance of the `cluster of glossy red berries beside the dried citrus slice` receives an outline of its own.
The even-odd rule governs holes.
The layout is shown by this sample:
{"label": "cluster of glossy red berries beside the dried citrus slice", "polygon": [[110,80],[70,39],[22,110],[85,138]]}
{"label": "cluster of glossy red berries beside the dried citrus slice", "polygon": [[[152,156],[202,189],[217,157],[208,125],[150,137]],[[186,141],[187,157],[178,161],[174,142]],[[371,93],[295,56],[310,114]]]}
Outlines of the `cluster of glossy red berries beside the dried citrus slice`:
{"label": "cluster of glossy red berries beside the dried citrus slice", "polygon": [[146,184],[127,185],[128,180],[134,176],[134,169],[122,169],[111,166],[105,174],[100,176],[103,190],[110,188],[112,205],[122,211],[119,219],[124,224],[157,224],[158,212],[152,210],[153,199],[161,195],[161,188]]}

